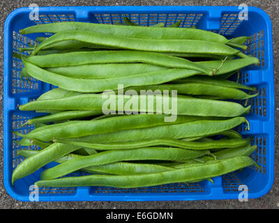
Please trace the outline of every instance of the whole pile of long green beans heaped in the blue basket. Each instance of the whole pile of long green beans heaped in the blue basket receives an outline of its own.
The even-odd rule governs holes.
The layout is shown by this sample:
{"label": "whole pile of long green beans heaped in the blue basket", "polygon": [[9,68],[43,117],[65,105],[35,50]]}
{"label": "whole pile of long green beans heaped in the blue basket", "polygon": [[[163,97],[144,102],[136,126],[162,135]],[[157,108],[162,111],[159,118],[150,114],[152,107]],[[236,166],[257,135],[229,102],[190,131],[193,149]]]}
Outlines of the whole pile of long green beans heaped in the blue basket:
{"label": "whole pile of long green beans heaped in the blue basket", "polygon": [[[22,81],[33,77],[57,88],[19,107],[40,115],[23,124],[35,127],[27,134],[14,132],[22,146],[16,155],[27,158],[13,171],[13,185],[50,162],[58,164],[45,169],[36,185],[213,183],[215,176],[257,166],[250,158],[257,146],[234,130],[239,125],[249,130],[246,102],[257,96],[255,86],[234,81],[241,69],[259,63],[242,52],[248,37],[228,40],[196,27],[179,28],[180,20],[167,27],[123,21],[20,30],[54,33],[20,49],[28,55],[13,55],[22,59]],[[163,101],[172,106],[173,91],[175,120],[166,121],[173,114],[152,111]],[[116,107],[104,109],[104,93],[114,95]],[[137,103],[126,107],[132,99]],[[68,176],[75,171],[86,176]]]}

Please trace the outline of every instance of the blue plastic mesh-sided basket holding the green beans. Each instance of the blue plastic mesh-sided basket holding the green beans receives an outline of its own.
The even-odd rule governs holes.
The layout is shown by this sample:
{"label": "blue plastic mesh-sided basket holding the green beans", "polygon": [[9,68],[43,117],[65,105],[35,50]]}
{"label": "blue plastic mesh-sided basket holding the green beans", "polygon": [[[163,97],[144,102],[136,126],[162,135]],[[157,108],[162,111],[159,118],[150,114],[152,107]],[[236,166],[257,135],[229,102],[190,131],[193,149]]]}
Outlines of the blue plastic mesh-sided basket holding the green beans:
{"label": "blue plastic mesh-sided basket holding the green beans", "polygon": [[[40,188],[39,201],[163,201],[163,200],[201,200],[201,199],[237,199],[239,185],[247,185],[248,198],[257,198],[266,194],[273,185],[274,178],[274,89],[273,89],[273,49],[271,20],[263,10],[248,7],[248,20],[239,20],[238,7],[216,6],[109,6],[109,7],[46,7],[39,8],[39,20],[29,20],[29,8],[19,8],[8,15],[4,27],[4,75],[3,75],[3,157],[4,185],[11,197],[29,201],[29,186],[39,179],[41,168],[34,174],[17,180],[11,185],[13,169],[24,157],[17,151],[26,146],[13,143],[20,139],[13,130],[27,133],[33,126],[25,125],[33,112],[21,112],[22,105],[52,89],[36,79],[31,83],[20,80],[22,62],[13,57],[20,47],[33,44],[33,40],[42,33],[20,35],[19,30],[34,24],[50,22],[94,22],[114,24],[123,22],[128,16],[133,22],[149,26],[158,22],[166,25],[182,20],[180,27],[197,26],[220,33],[227,38],[251,36],[246,53],[257,56],[260,66],[249,66],[241,70],[241,82],[257,86],[259,95],[249,100],[252,113],[249,114],[250,130],[241,125],[241,134],[253,137],[253,144],[258,146],[252,154],[259,164],[259,169],[247,167],[241,172],[234,172],[214,178],[214,183],[175,183],[156,187],[120,189],[112,187],[68,187]],[[47,33],[45,34],[47,35]],[[36,146],[29,149],[38,149]]]}

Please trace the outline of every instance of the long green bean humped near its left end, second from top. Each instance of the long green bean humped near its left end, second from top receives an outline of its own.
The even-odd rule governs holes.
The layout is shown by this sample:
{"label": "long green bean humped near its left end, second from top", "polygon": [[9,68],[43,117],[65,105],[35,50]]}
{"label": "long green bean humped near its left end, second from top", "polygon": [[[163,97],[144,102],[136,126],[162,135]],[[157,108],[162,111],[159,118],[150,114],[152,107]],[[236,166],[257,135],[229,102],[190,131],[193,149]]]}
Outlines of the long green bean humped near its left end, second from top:
{"label": "long green bean humped near its left end, second from top", "polygon": [[[172,28],[174,29],[174,28]],[[105,47],[118,47],[119,49],[132,49],[149,52],[181,52],[181,53],[201,53],[218,54],[231,56],[239,53],[239,50],[224,45],[204,40],[156,40],[144,38],[128,38],[112,36],[94,31],[63,31],[47,38],[43,43],[36,45],[33,55],[36,55],[40,49],[59,43],[64,40],[78,40],[84,43],[94,45],[103,45]]]}

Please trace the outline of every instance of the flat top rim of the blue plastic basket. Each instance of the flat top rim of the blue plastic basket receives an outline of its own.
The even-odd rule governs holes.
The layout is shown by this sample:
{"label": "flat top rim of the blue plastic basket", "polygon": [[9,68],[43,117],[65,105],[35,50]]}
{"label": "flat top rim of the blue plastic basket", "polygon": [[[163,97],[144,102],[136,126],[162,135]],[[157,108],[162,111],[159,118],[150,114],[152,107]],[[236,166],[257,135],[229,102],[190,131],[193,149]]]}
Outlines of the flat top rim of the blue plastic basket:
{"label": "flat top rim of the blue plastic basket", "polygon": [[[63,11],[69,11],[72,10],[73,12],[75,12],[76,10],[93,10],[93,11],[99,11],[99,12],[119,12],[122,10],[128,10],[130,12],[132,11],[137,11],[137,12],[144,12],[146,10],[149,10],[149,12],[151,11],[162,11],[162,12],[167,12],[167,11],[176,11],[176,12],[183,12],[185,10],[191,11],[191,10],[195,10],[195,12],[208,12],[208,9],[210,8],[211,11],[220,11],[221,9],[223,11],[226,12],[230,12],[233,11],[234,13],[236,11],[240,11],[241,9],[239,9],[238,6],[50,6],[50,7],[39,7],[40,10],[43,10],[44,12],[47,13],[47,11],[50,12],[59,12],[61,10]],[[3,35],[3,62],[4,62],[4,66],[3,66],[3,162],[7,163],[8,162],[8,111],[5,109],[6,105],[7,105],[7,100],[9,98],[8,95],[8,66],[6,65],[8,62],[8,59],[10,57],[10,52],[8,52],[8,45],[9,45],[9,37],[10,37],[10,33],[9,33],[9,28],[10,28],[10,22],[11,20],[13,20],[13,18],[18,15],[19,13],[27,13],[30,12],[31,9],[28,7],[22,7],[22,8],[16,8],[15,10],[13,10],[12,12],[10,12],[10,14],[6,17],[6,20],[4,22],[4,27],[3,27],[3,31],[4,31],[4,35]],[[268,55],[269,55],[269,59],[270,59],[270,66],[269,66],[269,72],[272,73],[272,84],[269,85],[269,88],[271,88],[271,91],[274,92],[274,77],[273,77],[273,45],[272,45],[272,22],[271,22],[271,18],[269,17],[269,15],[262,10],[261,8],[255,7],[255,6],[248,6],[248,11],[250,12],[255,12],[255,13],[259,13],[259,15],[262,15],[262,17],[264,17],[264,22],[266,22],[266,36],[269,40],[271,40],[271,45],[268,45]],[[271,132],[274,133],[274,128],[275,128],[275,101],[274,101],[274,95],[271,95],[271,107],[273,107],[274,109],[271,109],[271,116],[269,118],[269,121],[272,121],[273,125],[272,125],[272,129]],[[274,152],[274,134],[271,135],[271,140],[272,140],[272,144],[273,144],[273,152]],[[274,167],[274,159],[271,159],[272,162],[272,166]],[[5,164],[3,165],[3,167],[5,167]],[[271,174],[271,176],[269,177],[268,183],[266,184],[266,187],[264,187],[264,190],[257,192],[257,193],[253,193],[250,194],[250,199],[257,199],[259,197],[264,196],[265,194],[267,194],[269,192],[269,190],[271,190],[271,187],[273,186],[273,182],[274,182],[274,169],[272,171],[273,173]],[[28,196],[22,196],[19,194],[16,194],[15,192],[13,192],[13,190],[9,187],[8,185],[8,169],[7,168],[3,168],[3,185],[6,189],[6,192],[8,192],[8,194],[10,195],[10,197],[13,197],[14,199],[17,199],[19,201],[29,201],[29,197]],[[217,200],[217,199],[235,199],[234,194],[227,194],[226,198],[223,197],[202,197],[200,195],[193,195],[190,196],[188,195],[188,197],[181,197],[181,195],[169,195],[169,196],[163,196],[163,197],[158,197],[158,196],[153,196],[153,195],[144,195],[142,194],[142,197],[144,197],[144,199],[139,199],[138,196],[134,196],[134,195],[113,195],[113,196],[104,196],[101,197],[99,196],[89,196],[90,199],[77,199],[77,195],[75,194],[75,196],[71,195],[71,196],[63,196],[63,197],[41,197],[41,201],[188,201],[188,200]],[[231,197],[231,198],[230,198]],[[92,199],[92,198],[96,198],[96,199]],[[112,200],[113,198],[113,200]],[[147,198],[147,199],[146,199]]]}

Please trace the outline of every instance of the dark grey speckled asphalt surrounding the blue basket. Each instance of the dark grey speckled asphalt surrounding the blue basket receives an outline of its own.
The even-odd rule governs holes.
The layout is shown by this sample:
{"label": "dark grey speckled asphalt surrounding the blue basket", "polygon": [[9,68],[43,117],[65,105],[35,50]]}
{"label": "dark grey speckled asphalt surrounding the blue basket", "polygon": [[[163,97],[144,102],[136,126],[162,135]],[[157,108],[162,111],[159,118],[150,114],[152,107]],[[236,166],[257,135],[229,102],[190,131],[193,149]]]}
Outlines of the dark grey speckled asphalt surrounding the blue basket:
{"label": "dark grey speckled asphalt surrounding the blue basket", "polygon": [[0,208],[279,208],[279,182],[278,182],[278,114],[279,114],[279,31],[276,29],[279,26],[279,1],[243,1],[243,0],[227,0],[227,1],[82,1],[82,0],[47,0],[47,1],[20,1],[6,0],[1,1],[1,33],[0,33],[0,53],[3,58],[3,24],[8,14],[16,8],[28,7],[31,3],[36,3],[38,6],[239,6],[241,3],[246,3],[248,6],[257,6],[262,8],[269,14],[273,23],[273,56],[274,56],[274,84],[276,96],[276,155],[275,155],[275,181],[273,187],[264,197],[259,199],[249,199],[248,202],[240,202],[238,200],[218,200],[218,201],[149,201],[149,202],[21,202],[11,198],[3,187],[3,59],[0,61],[0,102],[1,102],[1,148],[0,148]]}

